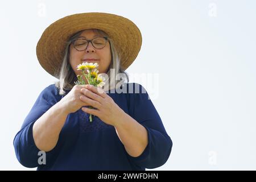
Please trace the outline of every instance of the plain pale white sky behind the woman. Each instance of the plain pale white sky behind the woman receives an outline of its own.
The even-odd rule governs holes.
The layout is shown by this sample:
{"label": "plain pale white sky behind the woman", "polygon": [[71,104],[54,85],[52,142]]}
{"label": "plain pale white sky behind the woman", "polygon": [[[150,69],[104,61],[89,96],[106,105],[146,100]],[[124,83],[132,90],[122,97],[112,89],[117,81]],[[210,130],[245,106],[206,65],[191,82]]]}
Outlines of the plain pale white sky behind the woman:
{"label": "plain pale white sky behind the woman", "polygon": [[154,97],[174,143],[156,170],[256,169],[255,9],[249,0],[1,2],[0,169],[31,170],[16,159],[13,139],[56,81],[40,67],[36,44],[49,24],[84,12],[125,16],[142,32],[141,52],[126,71],[158,75],[136,82]]}

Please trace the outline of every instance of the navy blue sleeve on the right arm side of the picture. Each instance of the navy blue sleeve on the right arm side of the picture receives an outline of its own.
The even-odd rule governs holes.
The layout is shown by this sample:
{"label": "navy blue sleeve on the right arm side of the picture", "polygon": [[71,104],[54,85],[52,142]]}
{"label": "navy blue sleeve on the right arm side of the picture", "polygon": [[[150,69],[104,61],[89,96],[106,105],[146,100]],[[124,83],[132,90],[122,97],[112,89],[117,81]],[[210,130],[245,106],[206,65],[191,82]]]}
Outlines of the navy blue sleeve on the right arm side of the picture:
{"label": "navy blue sleeve on the right arm side of the picture", "polygon": [[[142,154],[137,157],[128,157],[134,164],[142,168],[157,168],[167,162],[171,154],[172,140],[164,129],[162,120],[152,104],[146,89],[140,84],[133,86],[133,93],[129,93],[129,113],[137,122],[147,130],[148,144]],[[136,93],[137,92],[137,93]],[[138,93],[139,92],[139,93]]]}

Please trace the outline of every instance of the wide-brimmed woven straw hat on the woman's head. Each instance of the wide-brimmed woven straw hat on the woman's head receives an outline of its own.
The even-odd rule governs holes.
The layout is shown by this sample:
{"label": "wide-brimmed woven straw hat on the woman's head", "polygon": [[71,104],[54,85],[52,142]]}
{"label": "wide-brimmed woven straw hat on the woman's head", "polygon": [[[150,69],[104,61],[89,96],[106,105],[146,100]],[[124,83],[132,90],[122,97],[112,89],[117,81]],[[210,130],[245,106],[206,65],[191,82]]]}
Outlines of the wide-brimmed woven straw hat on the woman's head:
{"label": "wide-brimmed woven straw hat on the woman's head", "polygon": [[81,30],[97,28],[113,39],[121,58],[121,68],[127,69],[141,49],[139,28],[123,16],[108,13],[81,13],[65,16],[44,30],[36,46],[40,65],[52,76],[59,73],[66,42]]}

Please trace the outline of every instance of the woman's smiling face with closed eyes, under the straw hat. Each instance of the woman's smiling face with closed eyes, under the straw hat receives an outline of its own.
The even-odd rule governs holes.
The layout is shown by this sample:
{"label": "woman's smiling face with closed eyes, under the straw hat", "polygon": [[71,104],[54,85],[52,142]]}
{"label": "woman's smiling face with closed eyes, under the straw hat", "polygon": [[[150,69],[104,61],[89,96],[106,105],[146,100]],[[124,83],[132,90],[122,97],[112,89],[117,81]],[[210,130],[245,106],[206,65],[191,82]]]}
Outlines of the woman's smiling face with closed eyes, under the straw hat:
{"label": "woman's smiling face with closed eyes, under the straw hat", "polygon": [[[84,30],[80,37],[83,36],[86,40],[92,40],[94,37],[102,37],[93,30]],[[96,60],[86,60],[86,59],[96,59]],[[92,43],[88,44],[88,47],[84,51],[77,51],[74,45],[71,44],[69,47],[69,63],[76,75],[81,75],[81,71],[77,70],[77,65],[83,62],[88,63],[98,63],[97,67],[98,73],[107,73],[109,65],[111,63],[111,51],[110,44],[107,41],[106,46],[102,49],[96,49],[92,46]],[[85,72],[87,73],[87,72]]]}

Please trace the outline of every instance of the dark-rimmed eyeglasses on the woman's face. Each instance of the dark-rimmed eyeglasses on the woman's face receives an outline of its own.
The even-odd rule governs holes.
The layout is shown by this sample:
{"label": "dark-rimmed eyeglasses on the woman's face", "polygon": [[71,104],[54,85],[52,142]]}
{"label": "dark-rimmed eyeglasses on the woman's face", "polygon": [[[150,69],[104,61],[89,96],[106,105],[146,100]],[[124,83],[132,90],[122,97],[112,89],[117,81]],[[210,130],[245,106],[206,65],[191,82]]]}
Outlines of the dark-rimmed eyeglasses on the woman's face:
{"label": "dark-rimmed eyeglasses on the woman's face", "polygon": [[106,36],[96,37],[92,40],[86,40],[84,37],[81,36],[80,38],[73,40],[72,43],[77,51],[84,51],[85,49],[87,49],[89,43],[92,43],[92,46],[96,49],[102,49],[106,46],[107,40],[108,37]]}

